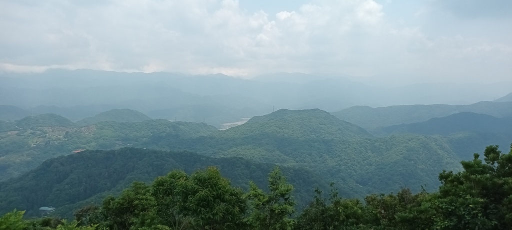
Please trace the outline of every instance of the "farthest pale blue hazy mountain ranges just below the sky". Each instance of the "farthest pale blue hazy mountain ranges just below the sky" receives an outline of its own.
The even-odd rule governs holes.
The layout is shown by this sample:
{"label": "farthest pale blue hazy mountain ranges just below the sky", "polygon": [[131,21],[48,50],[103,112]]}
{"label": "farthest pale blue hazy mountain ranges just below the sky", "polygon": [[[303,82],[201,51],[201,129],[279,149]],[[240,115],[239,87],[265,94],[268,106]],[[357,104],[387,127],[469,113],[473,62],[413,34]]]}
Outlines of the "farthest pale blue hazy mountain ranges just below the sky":
{"label": "farthest pale blue hazy mountain ranges just below the sky", "polygon": [[48,70],[0,74],[0,105],[57,113],[78,121],[113,108],[154,119],[220,126],[273,108],[338,111],[355,105],[472,104],[510,93],[512,82],[375,87],[343,76],[278,73],[253,79],[225,75]]}

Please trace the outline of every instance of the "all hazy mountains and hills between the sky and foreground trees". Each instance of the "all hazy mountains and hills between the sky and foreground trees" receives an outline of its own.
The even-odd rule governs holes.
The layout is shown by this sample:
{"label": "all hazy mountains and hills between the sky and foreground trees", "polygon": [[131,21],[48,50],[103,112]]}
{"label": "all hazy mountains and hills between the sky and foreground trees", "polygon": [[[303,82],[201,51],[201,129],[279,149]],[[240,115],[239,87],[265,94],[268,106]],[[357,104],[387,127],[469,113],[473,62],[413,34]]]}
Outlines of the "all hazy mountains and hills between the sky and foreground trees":
{"label": "all hazy mountains and hills between the sky and foreground trees", "polygon": [[[352,198],[433,191],[442,170],[459,171],[460,160],[485,146],[512,143],[509,96],[479,101],[496,91],[469,96],[474,89],[455,85],[400,89],[330,75],[247,80],[90,70],[0,81],[0,195],[10,197],[0,200],[1,212],[37,215],[51,204],[71,216],[131,181],[211,164],[242,188],[248,180],[262,185],[266,171],[281,166],[301,204],[330,181]],[[404,101],[413,105],[399,105]],[[446,104],[419,104],[431,101]]]}

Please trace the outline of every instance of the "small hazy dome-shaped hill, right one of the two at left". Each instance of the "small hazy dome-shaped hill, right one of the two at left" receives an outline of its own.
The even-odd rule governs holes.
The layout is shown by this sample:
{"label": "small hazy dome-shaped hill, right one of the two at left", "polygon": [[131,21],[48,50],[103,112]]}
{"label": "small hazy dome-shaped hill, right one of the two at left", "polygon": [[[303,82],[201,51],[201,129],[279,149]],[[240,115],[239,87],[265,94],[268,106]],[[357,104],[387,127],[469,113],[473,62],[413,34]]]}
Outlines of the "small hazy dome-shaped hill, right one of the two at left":
{"label": "small hazy dome-shaped hill, right one of the two at left", "polygon": [[115,122],[142,122],[146,120],[151,120],[150,117],[147,117],[144,113],[135,111],[132,109],[111,109],[109,111],[104,111],[92,118],[86,118],[80,121],[77,121],[77,125],[86,126],[92,125],[102,121],[115,121]]}

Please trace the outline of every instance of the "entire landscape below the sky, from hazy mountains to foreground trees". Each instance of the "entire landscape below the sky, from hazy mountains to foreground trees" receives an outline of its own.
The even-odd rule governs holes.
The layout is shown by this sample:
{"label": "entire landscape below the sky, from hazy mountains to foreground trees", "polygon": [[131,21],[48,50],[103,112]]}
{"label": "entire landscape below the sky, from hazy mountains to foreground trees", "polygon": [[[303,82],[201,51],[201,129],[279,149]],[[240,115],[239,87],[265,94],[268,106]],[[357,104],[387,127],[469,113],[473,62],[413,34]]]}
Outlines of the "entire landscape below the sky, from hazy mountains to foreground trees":
{"label": "entire landscape below the sky, from hazy mountains to foreground trees", "polygon": [[0,229],[512,227],[512,93],[453,105],[467,91],[284,73],[0,82]]}

